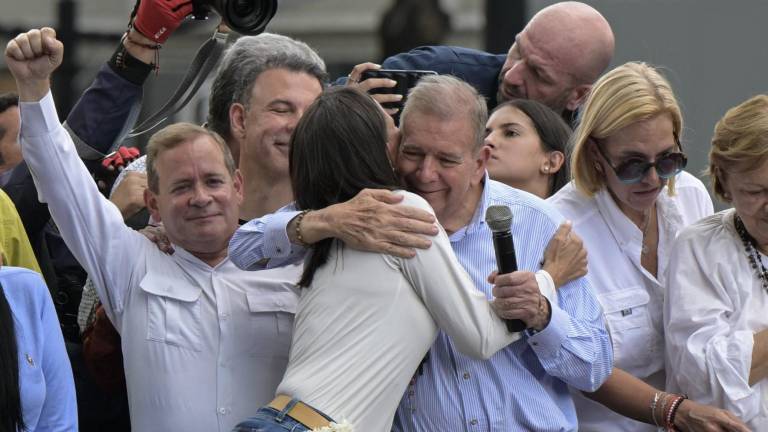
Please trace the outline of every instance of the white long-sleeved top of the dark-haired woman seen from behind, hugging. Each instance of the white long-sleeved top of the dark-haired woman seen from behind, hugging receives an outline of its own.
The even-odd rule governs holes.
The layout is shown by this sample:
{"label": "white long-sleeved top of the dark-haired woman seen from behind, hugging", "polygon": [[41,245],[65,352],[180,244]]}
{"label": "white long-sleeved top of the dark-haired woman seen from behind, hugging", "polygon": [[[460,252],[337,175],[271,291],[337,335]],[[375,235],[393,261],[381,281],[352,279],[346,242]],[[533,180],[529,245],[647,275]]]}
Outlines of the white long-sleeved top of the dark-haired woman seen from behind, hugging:
{"label": "white long-sleeved top of the dark-haired woman seen from behind, hugging", "polygon": [[[409,192],[402,204],[432,213]],[[488,358],[519,339],[440,233],[432,247],[401,259],[360,252],[335,241],[328,262],[301,293],[286,394],[355,430],[391,430],[400,399],[438,333],[465,354]]]}

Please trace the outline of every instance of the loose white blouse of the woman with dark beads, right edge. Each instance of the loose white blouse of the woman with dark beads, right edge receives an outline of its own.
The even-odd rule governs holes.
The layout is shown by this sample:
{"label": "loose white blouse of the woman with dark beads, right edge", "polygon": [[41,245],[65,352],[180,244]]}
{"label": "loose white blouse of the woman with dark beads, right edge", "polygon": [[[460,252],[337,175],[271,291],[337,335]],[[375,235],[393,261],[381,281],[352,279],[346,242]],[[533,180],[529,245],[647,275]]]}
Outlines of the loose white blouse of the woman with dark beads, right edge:
{"label": "loose white blouse of the woman with dark beads, right edge", "polygon": [[[749,385],[754,333],[768,328],[768,293],[725,210],[686,228],[669,264],[667,383],[768,430],[768,382]],[[768,259],[760,254],[763,265]]]}

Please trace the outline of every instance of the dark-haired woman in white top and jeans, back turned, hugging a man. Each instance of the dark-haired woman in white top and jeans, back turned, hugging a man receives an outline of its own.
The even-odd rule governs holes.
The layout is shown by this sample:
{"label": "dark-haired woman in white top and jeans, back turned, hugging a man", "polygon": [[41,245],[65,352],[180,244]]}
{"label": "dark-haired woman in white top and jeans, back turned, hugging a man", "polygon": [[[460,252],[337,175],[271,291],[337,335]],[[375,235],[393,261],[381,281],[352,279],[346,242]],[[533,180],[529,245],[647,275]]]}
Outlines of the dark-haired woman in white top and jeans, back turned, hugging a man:
{"label": "dark-haired woman in white top and jeans, back turned, hugging a man", "polygon": [[[323,93],[291,139],[296,207],[321,209],[375,188],[397,190],[402,205],[432,212],[424,199],[399,190],[387,137],[385,114],[369,96],[350,88]],[[323,240],[312,246],[299,286],[279,396],[238,431],[389,431],[438,329],[481,358],[519,338],[475,289],[442,228],[411,259]]]}

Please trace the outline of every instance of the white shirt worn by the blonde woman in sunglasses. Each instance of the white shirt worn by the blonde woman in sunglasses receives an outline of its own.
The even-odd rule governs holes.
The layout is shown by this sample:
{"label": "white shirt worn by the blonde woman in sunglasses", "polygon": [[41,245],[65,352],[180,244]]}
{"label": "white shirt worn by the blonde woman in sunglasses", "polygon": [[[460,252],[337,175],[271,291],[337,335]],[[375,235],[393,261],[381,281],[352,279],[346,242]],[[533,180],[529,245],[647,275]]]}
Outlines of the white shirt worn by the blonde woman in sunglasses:
{"label": "white shirt worn by the blonde woman in sunglasses", "polygon": [[[549,199],[584,241],[589,273],[613,343],[614,366],[656,388],[664,388],[664,274],[672,241],[683,227],[710,215],[712,200],[704,185],[682,172],[676,194],[664,188],[656,199],[659,226],[658,277],[643,268],[643,233],[619,209],[607,189],[593,198],[573,182]],[[652,431],[654,427],[614,413],[573,391],[581,431]]]}

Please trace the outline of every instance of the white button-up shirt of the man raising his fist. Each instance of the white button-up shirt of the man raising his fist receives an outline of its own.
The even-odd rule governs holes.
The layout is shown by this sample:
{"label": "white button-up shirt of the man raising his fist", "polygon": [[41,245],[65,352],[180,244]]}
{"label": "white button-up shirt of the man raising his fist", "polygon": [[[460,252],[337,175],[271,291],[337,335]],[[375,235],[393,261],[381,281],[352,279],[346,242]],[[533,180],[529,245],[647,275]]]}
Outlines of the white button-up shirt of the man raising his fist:
{"label": "white button-up shirt of the man raising his fist", "polygon": [[101,196],[51,94],[21,104],[24,158],[122,336],[136,431],[230,431],[269,402],[288,360],[299,267],[244,272],[160,252]]}

